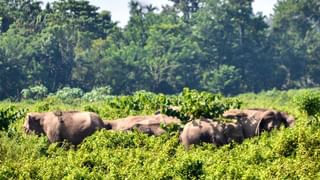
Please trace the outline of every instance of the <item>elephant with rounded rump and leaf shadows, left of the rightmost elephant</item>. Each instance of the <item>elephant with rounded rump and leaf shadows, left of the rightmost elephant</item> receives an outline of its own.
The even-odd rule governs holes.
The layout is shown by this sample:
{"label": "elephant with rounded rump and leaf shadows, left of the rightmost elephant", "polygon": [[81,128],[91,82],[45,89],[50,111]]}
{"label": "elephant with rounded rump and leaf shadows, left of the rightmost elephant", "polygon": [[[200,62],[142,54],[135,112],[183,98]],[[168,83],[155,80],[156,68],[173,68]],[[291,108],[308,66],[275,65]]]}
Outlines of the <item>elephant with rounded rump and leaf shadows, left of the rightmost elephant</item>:
{"label": "elephant with rounded rump and leaf shadows, left of the rightmost elephant", "polygon": [[210,119],[197,119],[188,122],[180,134],[180,142],[189,148],[200,142],[222,146],[232,141],[241,143],[244,139],[242,125],[239,123],[222,123]]}

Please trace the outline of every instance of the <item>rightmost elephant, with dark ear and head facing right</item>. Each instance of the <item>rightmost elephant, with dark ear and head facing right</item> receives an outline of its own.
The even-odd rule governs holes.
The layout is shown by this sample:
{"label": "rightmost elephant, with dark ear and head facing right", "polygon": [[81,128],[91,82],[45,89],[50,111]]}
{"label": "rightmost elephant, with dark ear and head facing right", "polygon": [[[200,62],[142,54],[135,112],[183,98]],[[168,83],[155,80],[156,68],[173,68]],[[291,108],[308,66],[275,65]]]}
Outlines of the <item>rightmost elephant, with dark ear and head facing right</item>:
{"label": "rightmost elephant, with dark ear and head facing right", "polygon": [[244,137],[250,138],[260,135],[262,131],[278,129],[283,124],[285,127],[294,125],[294,117],[285,112],[271,109],[231,109],[223,113],[223,117],[237,119],[243,126]]}

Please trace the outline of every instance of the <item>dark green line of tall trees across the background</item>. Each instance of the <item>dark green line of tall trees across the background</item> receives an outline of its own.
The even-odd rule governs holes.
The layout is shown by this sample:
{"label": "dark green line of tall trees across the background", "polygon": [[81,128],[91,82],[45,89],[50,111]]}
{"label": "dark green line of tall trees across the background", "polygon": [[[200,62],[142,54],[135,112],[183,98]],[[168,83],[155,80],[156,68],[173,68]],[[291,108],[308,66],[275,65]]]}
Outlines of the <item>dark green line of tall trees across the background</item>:
{"label": "dark green line of tall trees across the background", "polygon": [[43,84],[237,94],[320,83],[320,3],[279,0],[267,19],[253,0],[129,3],[121,28],[86,0],[0,1],[0,98]]}

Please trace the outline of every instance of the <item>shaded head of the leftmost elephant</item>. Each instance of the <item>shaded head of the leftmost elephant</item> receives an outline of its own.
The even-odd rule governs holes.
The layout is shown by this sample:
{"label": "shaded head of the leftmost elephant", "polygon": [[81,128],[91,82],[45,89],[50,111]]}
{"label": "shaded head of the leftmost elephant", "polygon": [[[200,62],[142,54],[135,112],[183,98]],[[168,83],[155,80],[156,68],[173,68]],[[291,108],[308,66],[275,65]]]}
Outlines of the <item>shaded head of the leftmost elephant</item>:
{"label": "shaded head of the leftmost elephant", "polygon": [[43,130],[43,114],[41,113],[28,113],[24,122],[24,130],[26,133],[34,132],[37,135],[44,134]]}

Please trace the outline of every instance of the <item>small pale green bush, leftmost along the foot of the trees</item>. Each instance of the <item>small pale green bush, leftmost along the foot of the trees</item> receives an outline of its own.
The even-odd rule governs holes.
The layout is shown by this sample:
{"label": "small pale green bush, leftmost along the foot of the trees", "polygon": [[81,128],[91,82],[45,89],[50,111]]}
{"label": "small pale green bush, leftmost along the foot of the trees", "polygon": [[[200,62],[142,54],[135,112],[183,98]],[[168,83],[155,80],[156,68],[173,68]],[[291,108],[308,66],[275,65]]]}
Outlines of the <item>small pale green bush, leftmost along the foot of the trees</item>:
{"label": "small pale green bush, leftmost along the foot of the trees", "polygon": [[48,89],[40,84],[21,91],[22,99],[43,99],[48,96]]}

